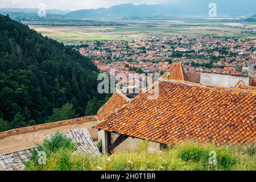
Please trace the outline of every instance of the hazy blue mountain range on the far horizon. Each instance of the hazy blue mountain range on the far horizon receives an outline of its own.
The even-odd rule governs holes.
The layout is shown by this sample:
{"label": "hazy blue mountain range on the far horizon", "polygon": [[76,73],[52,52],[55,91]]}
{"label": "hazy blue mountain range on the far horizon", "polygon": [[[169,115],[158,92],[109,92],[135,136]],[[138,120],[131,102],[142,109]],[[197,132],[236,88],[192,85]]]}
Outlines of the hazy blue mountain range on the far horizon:
{"label": "hazy blue mountain range on the far horizon", "polygon": [[[73,18],[134,18],[140,16],[170,15],[176,17],[208,17],[209,4],[212,0],[181,0],[168,5],[133,5],[122,4],[100,9],[85,9],[72,11],[67,16]],[[244,16],[255,13],[255,0],[215,0],[217,16]]]}

